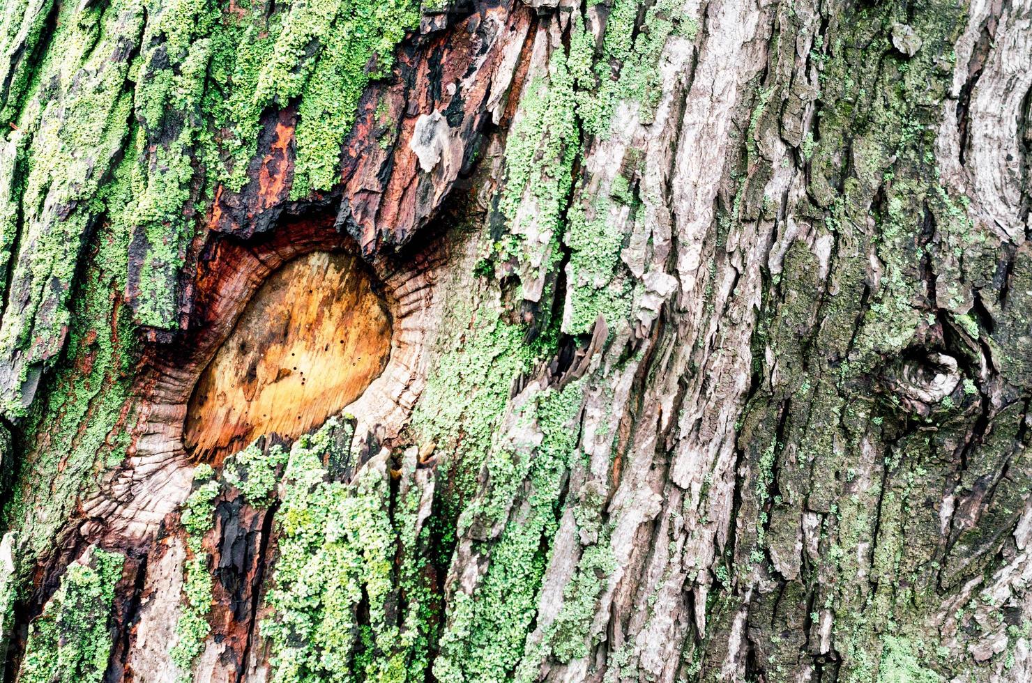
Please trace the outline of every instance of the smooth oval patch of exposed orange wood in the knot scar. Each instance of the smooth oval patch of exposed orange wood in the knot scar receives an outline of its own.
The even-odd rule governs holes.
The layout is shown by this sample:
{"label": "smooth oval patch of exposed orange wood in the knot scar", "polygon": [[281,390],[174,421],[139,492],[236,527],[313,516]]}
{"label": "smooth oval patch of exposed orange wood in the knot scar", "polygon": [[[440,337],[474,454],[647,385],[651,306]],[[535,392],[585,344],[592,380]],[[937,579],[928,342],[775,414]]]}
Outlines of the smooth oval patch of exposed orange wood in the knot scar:
{"label": "smooth oval patch of exposed orange wood in the knot scar", "polygon": [[272,273],[201,373],[187,409],[195,459],[262,434],[295,438],[365,391],[390,355],[384,300],[356,256],[314,252]]}

